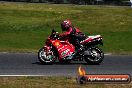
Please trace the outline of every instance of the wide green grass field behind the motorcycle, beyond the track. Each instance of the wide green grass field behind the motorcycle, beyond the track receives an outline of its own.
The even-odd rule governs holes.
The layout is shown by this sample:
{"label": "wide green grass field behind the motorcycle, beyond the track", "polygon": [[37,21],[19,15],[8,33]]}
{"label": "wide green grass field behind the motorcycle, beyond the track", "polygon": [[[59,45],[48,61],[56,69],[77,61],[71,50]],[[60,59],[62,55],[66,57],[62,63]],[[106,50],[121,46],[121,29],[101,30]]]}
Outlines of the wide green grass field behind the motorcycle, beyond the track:
{"label": "wide green grass field behind the motorcycle, beyond the track", "polygon": [[0,3],[0,51],[36,52],[51,28],[61,33],[64,19],[89,35],[102,35],[105,52],[132,54],[130,7],[7,2]]}

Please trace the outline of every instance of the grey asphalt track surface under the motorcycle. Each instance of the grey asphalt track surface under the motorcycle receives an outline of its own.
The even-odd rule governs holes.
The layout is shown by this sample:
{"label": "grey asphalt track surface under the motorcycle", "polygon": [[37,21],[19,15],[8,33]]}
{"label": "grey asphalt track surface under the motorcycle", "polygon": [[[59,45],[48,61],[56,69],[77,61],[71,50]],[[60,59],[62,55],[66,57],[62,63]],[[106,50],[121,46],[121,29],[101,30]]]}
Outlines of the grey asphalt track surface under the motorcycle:
{"label": "grey asphalt track surface under the motorcycle", "polygon": [[87,65],[85,62],[71,62],[53,65],[42,65],[33,53],[0,53],[0,75],[45,75],[72,76],[77,75],[78,67],[87,74],[130,74],[132,75],[132,56],[106,55],[100,65]]}

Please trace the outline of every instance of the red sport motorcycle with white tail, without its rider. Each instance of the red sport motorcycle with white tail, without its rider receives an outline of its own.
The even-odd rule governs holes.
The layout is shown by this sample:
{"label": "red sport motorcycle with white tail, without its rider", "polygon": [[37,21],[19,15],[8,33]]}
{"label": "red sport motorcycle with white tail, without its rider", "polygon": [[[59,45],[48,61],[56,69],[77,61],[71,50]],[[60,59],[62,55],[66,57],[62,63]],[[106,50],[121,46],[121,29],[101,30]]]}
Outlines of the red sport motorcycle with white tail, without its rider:
{"label": "red sport motorcycle with white tail, without its rider", "polygon": [[88,64],[100,64],[103,61],[104,53],[98,47],[103,45],[100,35],[88,36],[82,40],[83,46],[78,53],[75,46],[69,41],[61,40],[58,32],[52,30],[51,35],[45,42],[45,46],[38,52],[38,59],[43,64],[53,64],[57,59],[59,62],[70,63],[70,61],[83,61]]}

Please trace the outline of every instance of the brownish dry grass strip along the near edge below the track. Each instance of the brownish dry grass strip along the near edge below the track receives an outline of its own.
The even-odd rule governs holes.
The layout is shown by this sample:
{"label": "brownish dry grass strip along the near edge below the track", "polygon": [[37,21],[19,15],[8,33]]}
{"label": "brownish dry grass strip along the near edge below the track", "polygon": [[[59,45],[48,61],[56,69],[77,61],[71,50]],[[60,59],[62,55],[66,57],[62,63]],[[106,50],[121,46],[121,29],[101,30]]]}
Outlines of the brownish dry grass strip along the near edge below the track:
{"label": "brownish dry grass strip along the near edge below the track", "polygon": [[84,84],[74,77],[0,77],[0,88],[131,88],[130,84]]}

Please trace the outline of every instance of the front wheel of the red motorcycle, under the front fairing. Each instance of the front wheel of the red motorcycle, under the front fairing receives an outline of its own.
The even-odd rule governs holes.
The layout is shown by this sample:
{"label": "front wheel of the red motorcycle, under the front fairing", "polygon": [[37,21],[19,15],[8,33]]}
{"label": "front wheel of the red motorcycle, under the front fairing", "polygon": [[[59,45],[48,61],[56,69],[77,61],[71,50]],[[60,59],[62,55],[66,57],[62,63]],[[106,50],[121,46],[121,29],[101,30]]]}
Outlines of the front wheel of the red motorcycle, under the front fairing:
{"label": "front wheel of the red motorcycle, under the front fairing", "polygon": [[38,59],[42,64],[53,64],[56,57],[52,51],[46,51],[43,47],[38,52]]}

